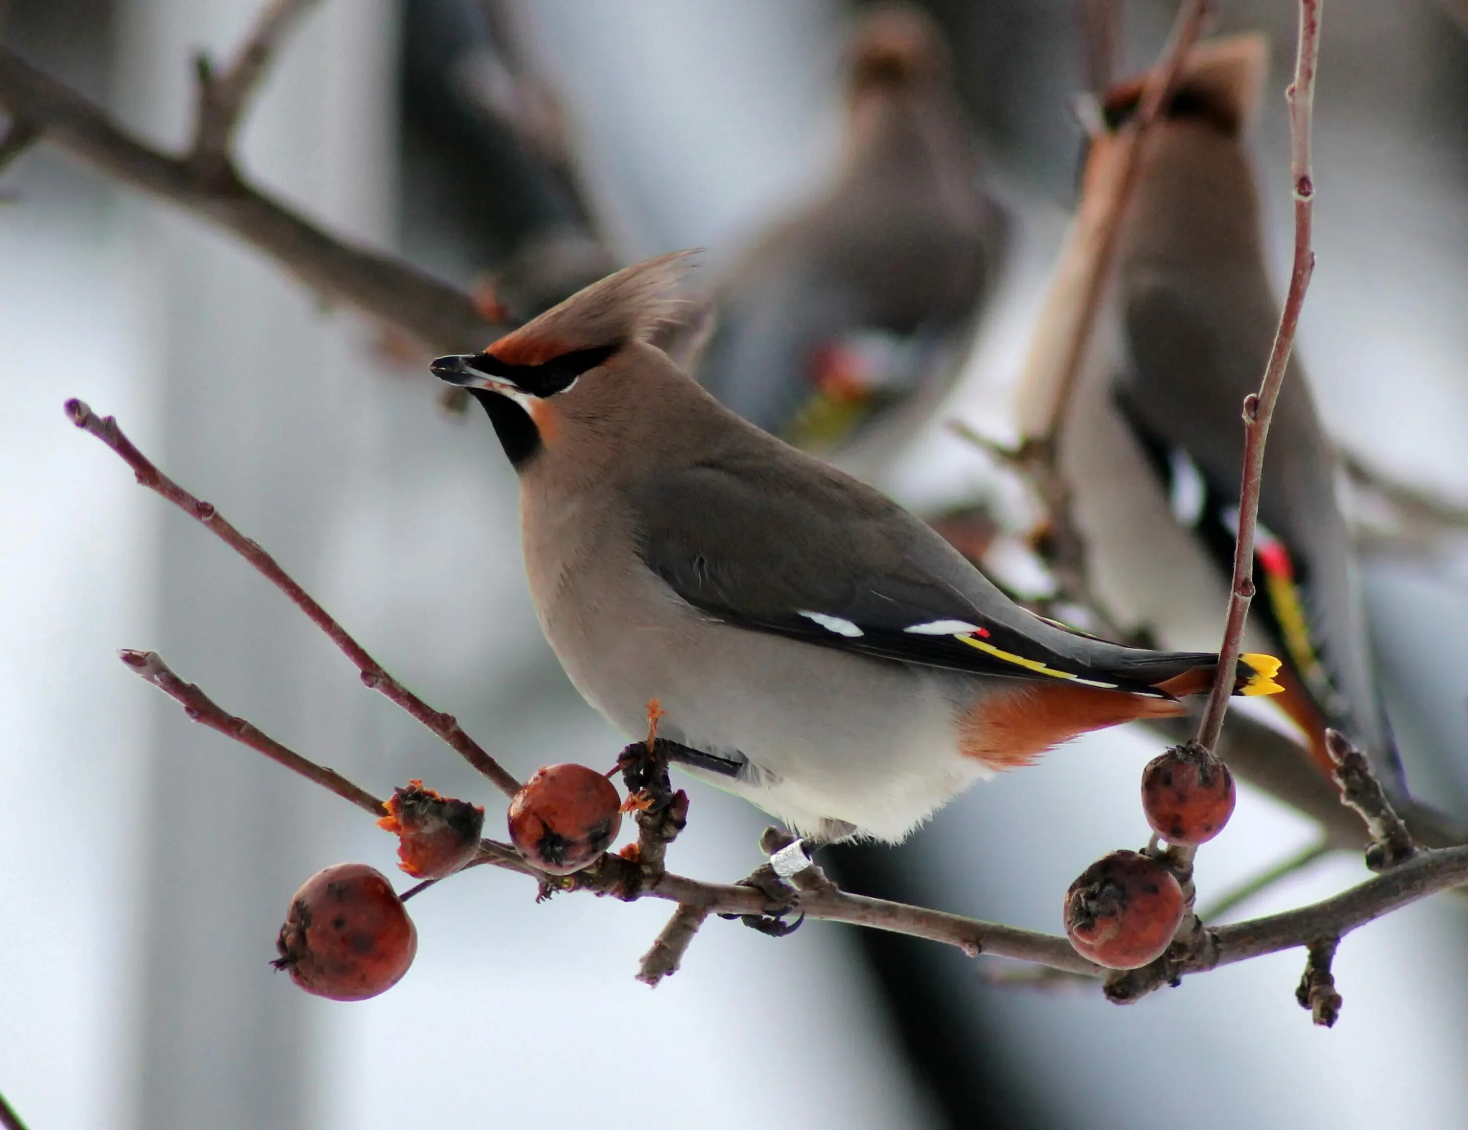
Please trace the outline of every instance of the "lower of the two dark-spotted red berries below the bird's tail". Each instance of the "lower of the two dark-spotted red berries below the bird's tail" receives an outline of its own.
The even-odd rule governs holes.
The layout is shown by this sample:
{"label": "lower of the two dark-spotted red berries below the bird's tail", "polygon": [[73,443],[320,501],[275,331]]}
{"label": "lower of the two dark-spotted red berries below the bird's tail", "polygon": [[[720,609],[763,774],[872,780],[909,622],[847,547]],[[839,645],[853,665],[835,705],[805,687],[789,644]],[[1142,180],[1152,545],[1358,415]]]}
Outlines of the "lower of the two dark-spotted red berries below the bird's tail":
{"label": "lower of the two dark-spotted red berries below the bird's tail", "polygon": [[1066,891],[1070,944],[1108,969],[1138,969],[1161,957],[1182,920],[1177,879],[1136,851],[1113,851]]}

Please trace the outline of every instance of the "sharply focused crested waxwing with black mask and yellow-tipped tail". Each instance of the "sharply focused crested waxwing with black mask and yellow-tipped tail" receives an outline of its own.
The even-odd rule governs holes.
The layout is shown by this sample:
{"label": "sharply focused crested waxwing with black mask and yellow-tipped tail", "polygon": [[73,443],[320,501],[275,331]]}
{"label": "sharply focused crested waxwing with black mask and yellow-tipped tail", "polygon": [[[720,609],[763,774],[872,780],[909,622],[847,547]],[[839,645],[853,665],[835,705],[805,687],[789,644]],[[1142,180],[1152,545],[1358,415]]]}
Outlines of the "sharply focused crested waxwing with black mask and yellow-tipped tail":
{"label": "sharply focused crested waxwing with black mask and yellow-tipped tail", "polygon": [[[520,475],[526,571],[614,725],[816,839],[901,839],[1085,731],[1183,712],[1217,656],[1076,634],[920,520],[741,420],[647,343],[684,254],[628,267],[433,371]],[[1238,690],[1279,666],[1245,656]]]}

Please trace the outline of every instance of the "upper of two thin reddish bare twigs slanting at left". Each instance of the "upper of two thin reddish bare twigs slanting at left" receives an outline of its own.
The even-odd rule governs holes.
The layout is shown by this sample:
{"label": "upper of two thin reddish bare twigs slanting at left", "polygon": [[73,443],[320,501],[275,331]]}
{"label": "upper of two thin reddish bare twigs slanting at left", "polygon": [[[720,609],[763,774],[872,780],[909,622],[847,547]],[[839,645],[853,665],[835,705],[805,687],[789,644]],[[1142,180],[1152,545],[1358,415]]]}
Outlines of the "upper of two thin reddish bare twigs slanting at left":
{"label": "upper of two thin reddish bare twigs slanting at left", "polygon": [[194,521],[200,522],[220,542],[233,549],[267,581],[285,593],[286,599],[301,609],[301,612],[304,612],[307,618],[316,624],[316,627],[326,633],[327,638],[330,638],[330,641],[335,643],[341,652],[357,665],[364,685],[371,690],[382,691],[382,694],[390,701],[396,703],[418,719],[418,722],[448,743],[448,746],[454,748],[465,762],[487,776],[506,797],[512,797],[520,790],[520,782],[505,772],[477,741],[465,734],[452,715],[439,713],[398,682],[398,679],[389,675],[383,669],[382,663],[373,659],[367,650],[357,643],[357,640],[354,640],[345,628],[342,628],[341,624],[332,619],[326,609],[316,603],[316,600],[313,600],[311,596],[276,564],[275,558],[230,525],[225,517],[214,509],[213,503],[194,497],[194,495],[188,493],[184,487],[159,471],[159,468],[154,467],[153,462],[134,446],[132,440],[122,433],[116,420],[110,415],[98,417],[91,408],[75,399],[66,402],[66,414],[70,417],[72,423],[76,424],[76,427],[90,431],[112,448],[123,459],[123,462],[132,468],[138,483],[148,487],[148,490],[161,495],[188,517],[194,518]]}

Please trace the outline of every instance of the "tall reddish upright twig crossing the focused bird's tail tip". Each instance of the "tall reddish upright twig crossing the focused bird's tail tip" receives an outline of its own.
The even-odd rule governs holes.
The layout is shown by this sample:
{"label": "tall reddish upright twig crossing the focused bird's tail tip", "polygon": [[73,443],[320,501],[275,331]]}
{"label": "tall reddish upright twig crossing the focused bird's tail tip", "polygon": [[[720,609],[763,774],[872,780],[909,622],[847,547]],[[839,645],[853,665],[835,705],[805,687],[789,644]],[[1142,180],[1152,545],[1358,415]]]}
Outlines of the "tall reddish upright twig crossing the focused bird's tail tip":
{"label": "tall reddish upright twig crossing the focused bird's tail tip", "polygon": [[1239,668],[1239,652],[1243,646],[1243,625],[1254,599],[1254,534],[1260,518],[1260,489],[1264,480],[1264,445],[1268,439],[1274,402],[1279,399],[1289,367],[1290,351],[1295,346],[1295,329],[1299,326],[1299,311],[1305,304],[1309,276],[1315,270],[1315,252],[1311,248],[1311,222],[1315,205],[1315,182],[1311,179],[1309,128],[1315,101],[1315,62],[1320,57],[1320,15],[1323,0],[1299,0],[1299,47],[1295,54],[1295,81],[1284,98],[1289,103],[1290,123],[1290,179],[1295,186],[1295,260],[1290,269],[1289,291],[1284,308],[1280,311],[1274,346],[1270,349],[1268,365],[1260,390],[1243,401],[1243,480],[1239,487],[1239,530],[1233,550],[1233,584],[1229,594],[1229,616],[1218,649],[1218,674],[1214,678],[1202,723],[1198,726],[1198,743],[1213,748],[1223,729],[1223,715],[1233,694],[1233,679]]}

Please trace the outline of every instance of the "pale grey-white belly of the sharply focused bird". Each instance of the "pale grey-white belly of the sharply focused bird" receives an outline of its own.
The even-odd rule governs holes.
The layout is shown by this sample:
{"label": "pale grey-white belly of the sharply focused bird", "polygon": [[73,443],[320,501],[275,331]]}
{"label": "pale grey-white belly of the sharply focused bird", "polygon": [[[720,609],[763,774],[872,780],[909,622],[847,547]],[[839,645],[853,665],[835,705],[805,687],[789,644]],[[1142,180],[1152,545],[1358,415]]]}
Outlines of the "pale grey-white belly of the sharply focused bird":
{"label": "pale grey-white belly of the sharply focused bird", "polygon": [[746,762],[737,778],[696,776],[802,834],[898,841],[992,775],[960,753],[972,679],[715,622],[642,572],[621,578],[615,608],[558,602],[546,635],[577,690],[630,738],[647,732],[656,699],[659,734]]}

